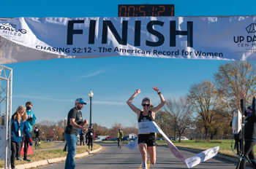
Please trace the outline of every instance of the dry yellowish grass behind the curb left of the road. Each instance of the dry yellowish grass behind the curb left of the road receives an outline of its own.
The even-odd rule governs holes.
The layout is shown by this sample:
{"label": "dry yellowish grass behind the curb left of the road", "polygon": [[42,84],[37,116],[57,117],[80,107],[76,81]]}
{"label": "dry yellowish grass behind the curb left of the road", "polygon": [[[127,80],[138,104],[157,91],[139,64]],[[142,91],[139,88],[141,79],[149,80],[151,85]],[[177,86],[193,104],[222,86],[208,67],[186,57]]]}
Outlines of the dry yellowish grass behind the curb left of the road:
{"label": "dry yellowish grass behind the curb left of the road", "polygon": [[[40,161],[40,160],[48,160],[48,159],[53,159],[57,157],[66,157],[67,152],[63,152],[63,148],[61,149],[54,149],[54,146],[56,146],[56,143],[52,142],[41,142],[40,147],[42,149],[34,149],[34,146],[32,146],[33,149],[33,154],[28,155],[28,158],[32,160],[32,162]],[[46,149],[46,148],[51,148],[53,149]],[[94,149],[99,149],[99,145],[94,143]],[[90,150],[88,149],[88,146],[77,146],[77,154],[81,154],[84,152],[89,152]],[[23,159],[23,155],[20,157]],[[15,165],[21,165],[28,163],[26,161],[15,161]],[[4,160],[0,160],[0,168],[4,168]]]}

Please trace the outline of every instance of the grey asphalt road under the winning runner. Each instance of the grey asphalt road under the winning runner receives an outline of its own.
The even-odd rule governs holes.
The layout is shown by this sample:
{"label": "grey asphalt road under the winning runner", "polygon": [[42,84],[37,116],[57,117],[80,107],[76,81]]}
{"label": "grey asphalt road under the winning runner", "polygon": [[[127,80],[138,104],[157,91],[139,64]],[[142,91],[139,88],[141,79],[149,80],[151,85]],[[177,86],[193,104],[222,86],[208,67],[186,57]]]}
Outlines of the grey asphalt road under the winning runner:
{"label": "grey asphalt road under the winning runner", "polygon": [[[99,168],[140,168],[141,156],[138,149],[131,151],[126,144],[119,149],[116,143],[97,143],[104,147],[102,152],[91,154],[88,157],[83,157],[75,160],[76,169],[99,169]],[[197,153],[180,151],[187,159]],[[63,169],[64,162],[43,167],[45,169]],[[149,165],[149,168],[187,168],[170,152],[167,146],[157,146],[157,164]],[[212,158],[206,162],[200,163],[193,168],[208,168],[208,169],[233,169],[236,168],[236,163]]]}

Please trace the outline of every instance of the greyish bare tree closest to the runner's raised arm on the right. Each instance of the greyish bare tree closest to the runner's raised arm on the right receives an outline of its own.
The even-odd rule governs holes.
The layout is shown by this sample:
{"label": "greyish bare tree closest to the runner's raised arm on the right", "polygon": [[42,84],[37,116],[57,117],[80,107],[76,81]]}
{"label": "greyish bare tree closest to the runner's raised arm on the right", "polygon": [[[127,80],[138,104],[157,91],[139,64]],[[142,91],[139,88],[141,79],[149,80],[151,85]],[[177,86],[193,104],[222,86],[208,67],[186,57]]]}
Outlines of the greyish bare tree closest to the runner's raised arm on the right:
{"label": "greyish bare tree closest to the runner's raised arm on the right", "polygon": [[179,142],[184,130],[192,125],[192,106],[189,105],[187,97],[167,98],[164,111],[170,114],[170,124],[177,130]]}

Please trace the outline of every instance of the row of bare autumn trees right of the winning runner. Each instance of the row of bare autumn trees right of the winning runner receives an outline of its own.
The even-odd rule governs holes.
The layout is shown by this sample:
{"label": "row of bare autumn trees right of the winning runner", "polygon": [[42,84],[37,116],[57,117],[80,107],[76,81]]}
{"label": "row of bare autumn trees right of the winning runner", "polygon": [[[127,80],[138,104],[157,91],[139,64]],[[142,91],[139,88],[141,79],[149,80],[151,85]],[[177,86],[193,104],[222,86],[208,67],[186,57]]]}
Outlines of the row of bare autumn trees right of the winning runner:
{"label": "row of bare autumn trees right of the winning runner", "polygon": [[255,95],[256,67],[248,61],[232,61],[219,66],[214,80],[205,79],[189,87],[187,95],[167,98],[156,121],[167,135],[190,135],[197,139],[232,138],[233,110],[240,109],[240,93],[246,105]]}

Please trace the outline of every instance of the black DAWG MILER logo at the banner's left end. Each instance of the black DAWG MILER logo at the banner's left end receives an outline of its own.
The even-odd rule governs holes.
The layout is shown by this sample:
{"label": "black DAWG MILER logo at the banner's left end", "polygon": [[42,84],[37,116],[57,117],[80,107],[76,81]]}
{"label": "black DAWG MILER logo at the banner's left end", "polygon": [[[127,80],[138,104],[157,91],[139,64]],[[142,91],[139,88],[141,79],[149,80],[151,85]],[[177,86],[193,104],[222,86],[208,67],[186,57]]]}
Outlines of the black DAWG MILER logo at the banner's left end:
{"label": "black DAWG MILER logo at the banner's left end", "polygon": [[16,28],[17,25],[13,25],[11,23],[2,23],[0,24],[0,31],[2,31],[3,34],[12,35],[12,36],[21,36],[22,34],[26,34],[26,29]]}

